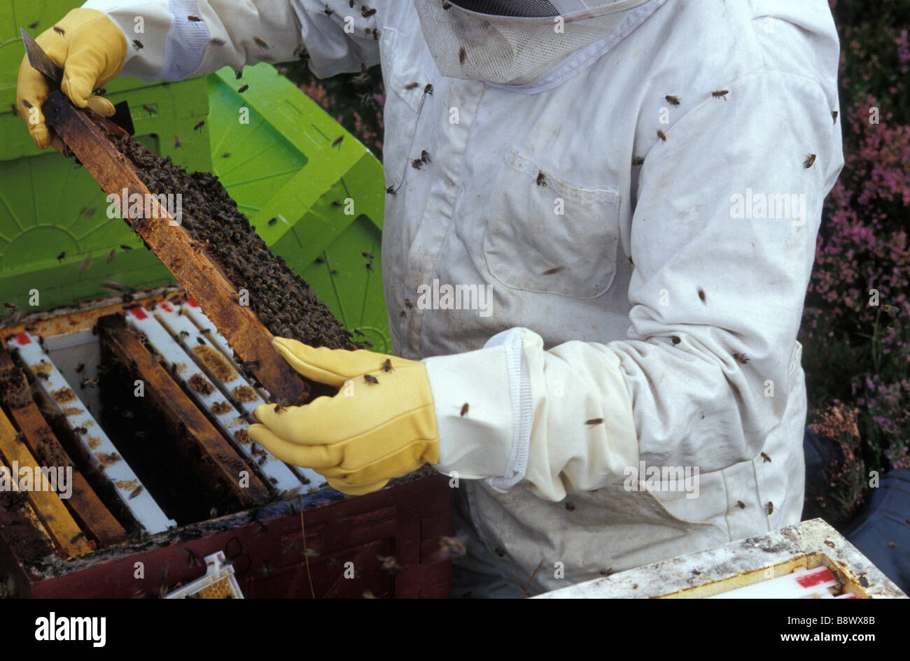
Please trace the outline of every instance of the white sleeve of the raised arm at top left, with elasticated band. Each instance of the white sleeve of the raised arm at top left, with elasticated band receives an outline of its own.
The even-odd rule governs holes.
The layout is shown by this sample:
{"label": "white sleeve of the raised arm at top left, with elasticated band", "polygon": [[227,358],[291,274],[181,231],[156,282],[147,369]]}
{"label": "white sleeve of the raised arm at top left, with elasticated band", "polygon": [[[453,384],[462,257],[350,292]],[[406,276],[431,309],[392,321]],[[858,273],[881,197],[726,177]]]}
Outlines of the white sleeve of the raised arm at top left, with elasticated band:
{"label": "white sleeve of the raised arm at top left, with elasticated band", "polygon": [[[125,6],[126,5],[126,6]],[[321,77],[379,62],[379,17],[349,0],[88,0],[126,35],[121,75],[181,80],[288,62],[306,48]],[[201,20],[196,20],[201,19]],[[376,30],[374,34],[372,31]]]}

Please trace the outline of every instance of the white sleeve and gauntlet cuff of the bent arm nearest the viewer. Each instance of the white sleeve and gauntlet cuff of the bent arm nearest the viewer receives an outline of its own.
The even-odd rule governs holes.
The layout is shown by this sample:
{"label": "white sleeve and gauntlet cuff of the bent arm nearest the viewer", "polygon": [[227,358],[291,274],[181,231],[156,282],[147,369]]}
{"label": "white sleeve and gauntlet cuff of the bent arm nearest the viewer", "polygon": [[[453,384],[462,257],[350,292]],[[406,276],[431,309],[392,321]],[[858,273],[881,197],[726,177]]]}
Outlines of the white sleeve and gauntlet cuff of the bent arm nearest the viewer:
{"label": "white sleeve and gauntlet cuff of the bent arm nearest the viewer", "polygon": [[[628,340],[545,351],[511,329],[518,370],[508,339],[425,361],[440,471],[493,486],[517,476],[558,501],[622,481],[640,460],[705,473],[761,452],[791,396],[822,202],[844,160],[836,96],[817,82],[763,71],[729,90],[645,156]],[[793,203],[789,215],[770,211],[784,203],[776,195]]]}

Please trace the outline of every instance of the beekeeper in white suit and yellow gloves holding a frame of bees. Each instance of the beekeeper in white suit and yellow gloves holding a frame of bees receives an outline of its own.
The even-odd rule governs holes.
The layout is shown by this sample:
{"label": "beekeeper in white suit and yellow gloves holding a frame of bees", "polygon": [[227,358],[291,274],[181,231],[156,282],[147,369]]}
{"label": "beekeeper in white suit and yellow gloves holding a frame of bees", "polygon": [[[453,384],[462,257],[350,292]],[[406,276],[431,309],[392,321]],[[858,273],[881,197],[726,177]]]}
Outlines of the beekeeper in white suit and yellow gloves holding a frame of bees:
{"label": "beekeeper in white suit and yellow gloves holding a frame of bees", "polygon": [[[250,436],[351,494],[450,476],[458,595],[799,521],[796,333],[843,165],[825,0],[372,4],[90,0],[38,40],[106,113],[91,92],[115,75],[381,63],[400,357],[279,339],[341,391],[260,409]],[[45,93],[23,65],[20,111]],[[29,130],[51,139],[40,114]]]}

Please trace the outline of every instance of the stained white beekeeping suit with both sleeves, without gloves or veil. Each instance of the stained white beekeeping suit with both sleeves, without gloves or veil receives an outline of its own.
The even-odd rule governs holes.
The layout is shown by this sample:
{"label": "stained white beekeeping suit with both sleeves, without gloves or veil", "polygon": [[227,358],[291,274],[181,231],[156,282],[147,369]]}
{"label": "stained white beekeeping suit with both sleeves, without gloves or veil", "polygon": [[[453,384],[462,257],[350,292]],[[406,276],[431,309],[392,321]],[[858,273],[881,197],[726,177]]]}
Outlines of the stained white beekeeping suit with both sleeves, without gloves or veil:
{"label": "stained white beekeeping suit with both sleeves, without gloves or veil", "polygon": [[[381,61],[392,345],[427,359],[438,467],[465,477],[512,585],[541,561],[531,593],[799,520],[796,333],[843,165],[824,0],[666,2],[538,88],[440,75],[413,0],[369,16],[347,0],[198,6],[227,40],[199,74],[301,41],[320,75]],[[165,61],[167,9],[147,11],[126,74]],[[109,14],[126,31],[136,12]],[[406,303],[434,280],[489,287],[489,309]],[[506,348],[485,347],[516,327],[531,394],[517,420]],[[501,493],[481,478],[514,475],[526,422],[524,477]],[[642,462],[698,468],[697,491],[649,482]]]}

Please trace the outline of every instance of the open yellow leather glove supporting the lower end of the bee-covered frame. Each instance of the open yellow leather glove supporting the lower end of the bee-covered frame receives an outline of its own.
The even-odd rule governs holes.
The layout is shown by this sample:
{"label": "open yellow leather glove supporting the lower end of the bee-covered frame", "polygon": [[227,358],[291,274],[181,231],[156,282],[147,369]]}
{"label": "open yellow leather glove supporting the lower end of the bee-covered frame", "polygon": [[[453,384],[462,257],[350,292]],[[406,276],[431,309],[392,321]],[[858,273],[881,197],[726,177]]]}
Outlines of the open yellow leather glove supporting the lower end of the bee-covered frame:
{"label": "open yellow leather glove supporting the lower end of the bee-covered frame", "polygon": [[305,406],[258,406],[262,424],[250,426],[248,434],[273,455],[316,470],[350,495],[369,494],[392,477],[439,461],[423,363],[363,349],[317,349],[283,337],[273,346],[303,376],[340,388]]}

